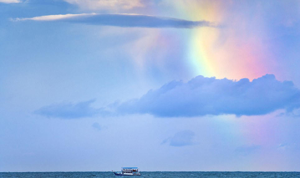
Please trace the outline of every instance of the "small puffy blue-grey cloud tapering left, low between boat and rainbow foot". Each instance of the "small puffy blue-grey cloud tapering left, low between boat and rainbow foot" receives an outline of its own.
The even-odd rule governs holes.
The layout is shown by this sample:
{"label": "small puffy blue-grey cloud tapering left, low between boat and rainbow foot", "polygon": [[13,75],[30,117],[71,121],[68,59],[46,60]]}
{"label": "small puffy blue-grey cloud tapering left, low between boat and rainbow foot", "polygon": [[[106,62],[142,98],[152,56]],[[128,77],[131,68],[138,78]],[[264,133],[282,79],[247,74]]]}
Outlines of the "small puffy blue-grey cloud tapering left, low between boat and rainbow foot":
{"label": "small puffy blue-grey cloud tapering left, low between boat and rainbow foot", "polygon": [[162,144],[169,143],[170,146],[181,147],[192,145],[195,133],[191,130],[183,130],[177,132],[173,137],[169,137],[162,141]]}

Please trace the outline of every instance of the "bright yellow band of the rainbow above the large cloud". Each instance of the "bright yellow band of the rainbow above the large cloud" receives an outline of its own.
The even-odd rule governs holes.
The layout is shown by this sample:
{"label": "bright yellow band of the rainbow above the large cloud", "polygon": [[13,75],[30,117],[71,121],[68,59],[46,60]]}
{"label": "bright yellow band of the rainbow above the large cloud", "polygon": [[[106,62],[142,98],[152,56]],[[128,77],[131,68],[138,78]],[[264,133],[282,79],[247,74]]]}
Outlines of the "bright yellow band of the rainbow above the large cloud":
{"label": "bright yellow band of the rainbow above the large cloud", "polygon": [[[190,1],[185,4],[187,18],[193,21],[220,21],[216,13],[218,2]],[[214,42],[218,38],[218,29],[211,27],[201,27],[192,30],[189,43],[188,59],[194,75],[204,75],[207,77],[216,76],[216,63],[212,60]]]}

